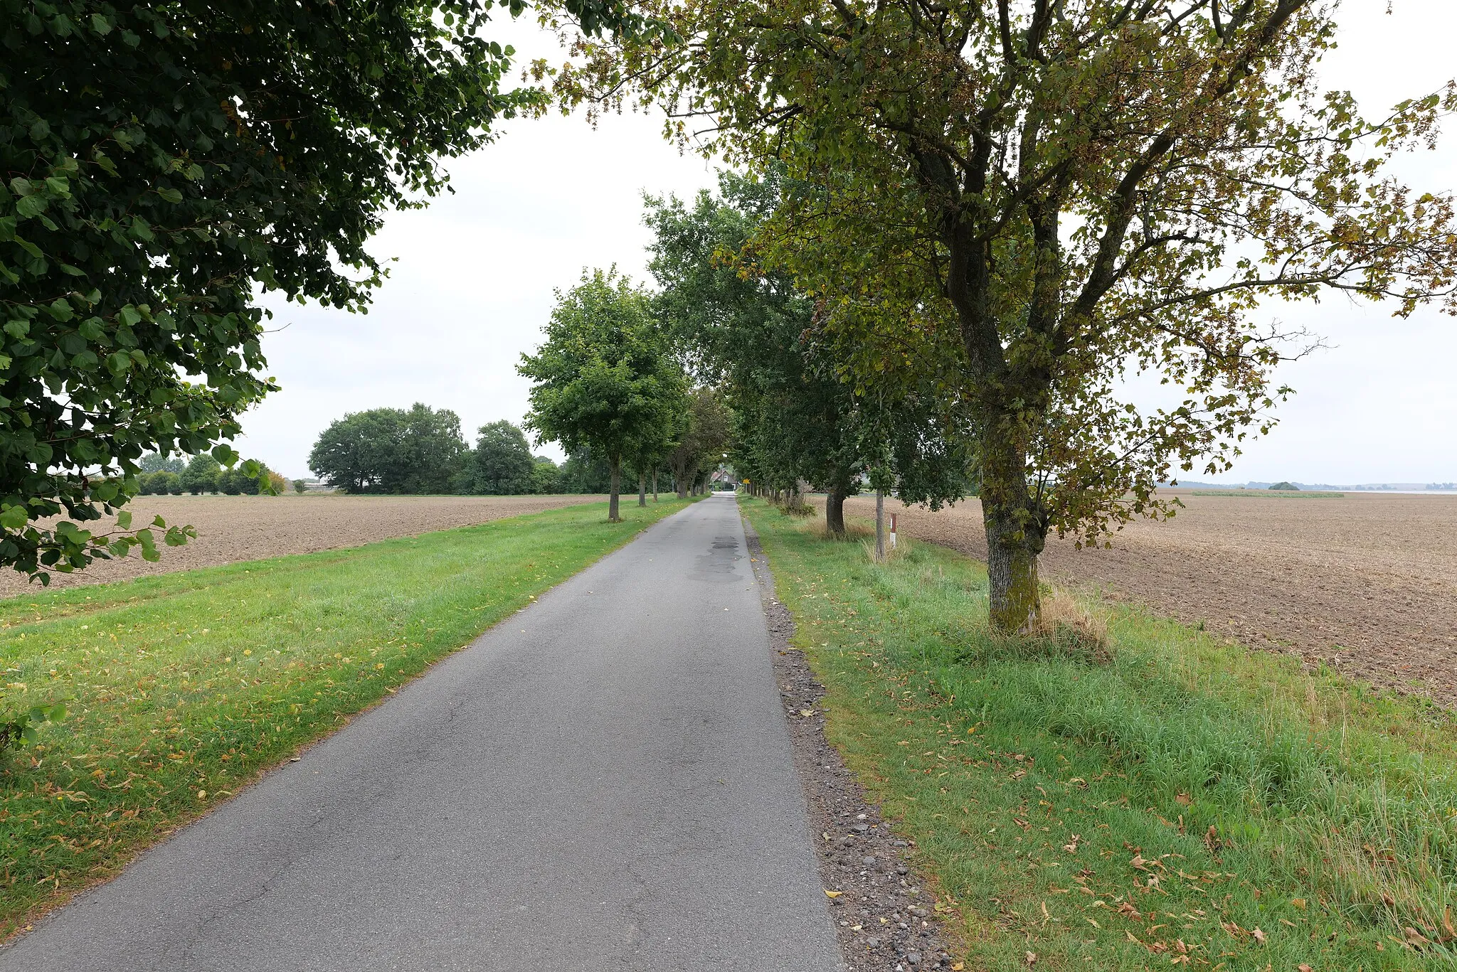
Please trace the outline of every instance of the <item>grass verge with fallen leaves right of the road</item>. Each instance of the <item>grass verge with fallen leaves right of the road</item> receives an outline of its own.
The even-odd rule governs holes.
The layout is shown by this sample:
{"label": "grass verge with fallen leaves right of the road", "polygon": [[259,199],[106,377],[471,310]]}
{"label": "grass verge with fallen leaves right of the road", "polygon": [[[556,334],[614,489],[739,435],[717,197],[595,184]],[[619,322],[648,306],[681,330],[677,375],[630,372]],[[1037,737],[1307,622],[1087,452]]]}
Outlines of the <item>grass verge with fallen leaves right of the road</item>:
{"label": "grass verge with fallen leaves right of the road", "polygon": [[916,544],[877,567],[745,510],[830,740],[916,842],[967,969],[1457,968],[1406,933],[1457,921],[1451,713],[1129,608],[1097,608],[1112,660],[1008,651],[981,564]]}

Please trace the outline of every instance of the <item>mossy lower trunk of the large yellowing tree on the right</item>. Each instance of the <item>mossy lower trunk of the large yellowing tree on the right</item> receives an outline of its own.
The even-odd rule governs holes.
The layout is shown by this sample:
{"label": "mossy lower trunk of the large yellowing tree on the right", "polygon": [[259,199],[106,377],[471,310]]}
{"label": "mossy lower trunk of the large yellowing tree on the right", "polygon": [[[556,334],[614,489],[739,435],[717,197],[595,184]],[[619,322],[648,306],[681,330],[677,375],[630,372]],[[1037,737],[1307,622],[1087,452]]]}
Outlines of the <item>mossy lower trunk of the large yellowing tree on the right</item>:
{"label": "mossy lower trunk of the large yellowing tree on the right", "polygon": [[1042,611],[1037,555],[1048,533],[1027,493],[1026,453],[1011,444],[983,452],[981,500],[992,628],[1023,634]]}

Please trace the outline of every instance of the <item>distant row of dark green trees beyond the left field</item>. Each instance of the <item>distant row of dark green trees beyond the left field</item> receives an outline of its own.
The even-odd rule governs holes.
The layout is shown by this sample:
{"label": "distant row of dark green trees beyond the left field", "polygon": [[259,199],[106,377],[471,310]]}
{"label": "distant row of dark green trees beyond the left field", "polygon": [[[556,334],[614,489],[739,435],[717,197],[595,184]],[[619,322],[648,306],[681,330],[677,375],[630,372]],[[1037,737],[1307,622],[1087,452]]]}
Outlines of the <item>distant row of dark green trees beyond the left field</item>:
{"label": "distant row of dark green trees beyond the left field", "polygon": [[481,426],[472,447],[459,415],[418,402],[331,423],[309,468],[344,493],[389,494],[606,493],[610,477],[608,463],[586,452],[561,465],[533,456],[526,433],[508,421]]}

